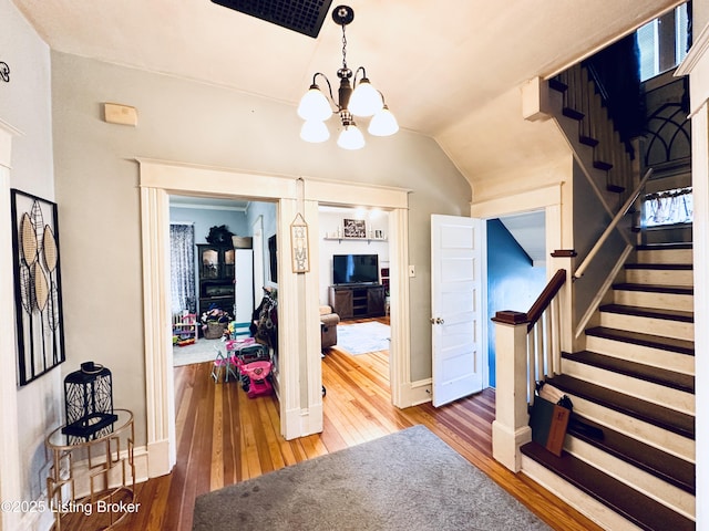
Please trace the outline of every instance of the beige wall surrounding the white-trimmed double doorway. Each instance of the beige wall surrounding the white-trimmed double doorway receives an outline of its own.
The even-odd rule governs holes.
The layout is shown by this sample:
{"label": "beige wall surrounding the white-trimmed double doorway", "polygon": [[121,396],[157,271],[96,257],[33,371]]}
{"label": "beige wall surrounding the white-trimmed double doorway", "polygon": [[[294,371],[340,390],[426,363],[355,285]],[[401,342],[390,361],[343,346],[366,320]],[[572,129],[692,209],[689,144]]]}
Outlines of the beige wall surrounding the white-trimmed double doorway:
{"label": "beige wall surrounding the white-trimmed double doorway", "polygon": [[[430,377],[430,215],[465,215],[471,199],[433,140],[402,131],[356,153],[306,144],[295,108],[281,103],[62,53],[52,53],[52,97],[68,368],[94,360],[113,371],[114,403],[136,413],[138,445],[146,439],[138,156],[411,189],[411,377]],[[135,106],[137,127],[103,122],[103,102]]]}

